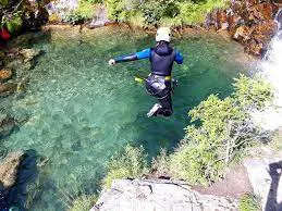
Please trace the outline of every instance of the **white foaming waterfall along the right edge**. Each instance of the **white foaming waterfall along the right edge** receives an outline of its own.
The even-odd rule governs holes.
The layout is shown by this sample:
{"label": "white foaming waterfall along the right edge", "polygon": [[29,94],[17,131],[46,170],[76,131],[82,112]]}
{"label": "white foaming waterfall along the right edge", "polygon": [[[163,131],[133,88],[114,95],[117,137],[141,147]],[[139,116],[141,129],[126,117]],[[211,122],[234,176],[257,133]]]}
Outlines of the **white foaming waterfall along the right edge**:
{"label": "white foaming waterfall along the right edge", "polygon": [[254,119],[259,122],[265,129],[274,131],[282,126],[282,10],[280,9],[275,22],[279,29],[272,38],[268,52],[259,69],[274,88],[275,109],[267,109],[263,113],[255,113]]}

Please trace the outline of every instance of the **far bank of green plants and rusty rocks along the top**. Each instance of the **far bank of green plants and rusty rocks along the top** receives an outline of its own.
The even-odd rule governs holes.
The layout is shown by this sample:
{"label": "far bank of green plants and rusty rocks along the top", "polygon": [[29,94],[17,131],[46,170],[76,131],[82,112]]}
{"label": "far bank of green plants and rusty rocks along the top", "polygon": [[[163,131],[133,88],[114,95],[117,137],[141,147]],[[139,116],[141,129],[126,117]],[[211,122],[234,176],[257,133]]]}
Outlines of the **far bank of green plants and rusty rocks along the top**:
{"label": "far bank of green plants and rusty rocks along the top", "polygon": [[[156,10],[171,10],[172,2],[168,3],[168,7],[160,7]],[[174,3],[177,8],[177,2]],[[195,7],[192,4],[187,4],[186,7],[194,7],[197,11],[197,8],[204,8],[204,11],[198,11],[194,14],[194,9],[192,12],[189,11],[181,11],[180,14],[174,14],[174,16],[165,17],[162,13],[157,13],[156,15],[160,15],[159,17],[150,16],[152,18],[151,22],[146,22],[147,12],[150,10],[148,9],[147,12],[142,10],[143,4],[97,4],[96,12],[93,14],[93,18],[84,20],[82,18],[81,22],[84,23],[83,26],[88,28],[101,27],[105,25],[110,24],[120,24],[125,25],[131,28],[135,29],[145,29],[145,30],[155,30],[160,25],[171,26],[175,34],[182,33],[186,28],[206,28],[209,30],[222,32],[225,30],[229,33],[230,37],[245,47],[245,52],[250,53],[255,57],[262,58],[267,51],[268,44],[270,39],[274,36],[275,32],[278,30],[278,23],[274,22],[274,17],[279,10],[279,4],[273,3],[272,1],[232,1],[226,2],[222,1],[219,2],[207,2],[209,4],[208,8],[205,4],[197,4]],[[119,5],[119,7],[118,7]],[[170,5],[170,7],[169,7]],[[85,5],[82,5],[84,8]],[[49,10],[49,14],[56,14],[56,5]],[[115,10],[121,10],[124,8],[124,14],[117,13]],[[145,7],[146,8],[146,7]],[[184,7],[185,8],[185,7]],[[174,8],[175,9],[175,8]],[[77,10],[77,12],[75,12]],[[79,4],[77,4],[77,9],[69,11],[70,14],[75,14],[77,18],[79,16],[84,16],[83,9],[79,9]],[[138,13],[140,10],[140,13]],[[155,9],[154,9],[155,10]],[[137,11],[137,13],[136,13]],[[150,11],[152,12],[152,11]],[[87,11],[87,15],[90,16],[89,11]],[[127,14],[128,15],[125,15]],[[59,12],[61,20],[64,20],[62,14]],[[68,16],[68,12],[63,14]],[[118,16],[117,16],[118,15]],[[120,17],[119,15],[124,15]],[[164,15],[164,16],[163,16]],[[189,18],[193,15],[198,16],[196,20],[197,22],[191,22]],[[155,20],[156,18],[156,20]],[[111,20],[111,21],[110,21]],[[161,21],[167,20],[167,21]],[[185,21],[186,20],[186,21]],[[278,18],[279,20],[279,18]],[[58,22],[58,21],[57,21]],[[66,21],[68,23],[68,21]],[[79,24],[79,21],[76,22],[69,22],[73,24]]]}

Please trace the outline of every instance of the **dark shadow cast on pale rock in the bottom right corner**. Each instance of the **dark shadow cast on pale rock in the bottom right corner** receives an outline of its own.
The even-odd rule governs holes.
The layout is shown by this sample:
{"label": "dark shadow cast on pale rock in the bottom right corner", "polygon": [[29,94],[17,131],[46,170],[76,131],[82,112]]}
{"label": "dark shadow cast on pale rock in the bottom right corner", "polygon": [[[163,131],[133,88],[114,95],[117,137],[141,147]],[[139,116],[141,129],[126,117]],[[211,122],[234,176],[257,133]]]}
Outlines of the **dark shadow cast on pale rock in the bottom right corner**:
{"label": "dark shadow cast on pale rock in the bottom right corner", "polygon": [[[269,174],[271,176],[271,185],[268,193],[266,211],[282,211],[282,203],[278,203],[279,181],[282,173],[282,161],[269,164]],[[280,187],[281,188],[281,187]]]}

